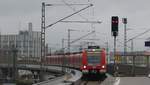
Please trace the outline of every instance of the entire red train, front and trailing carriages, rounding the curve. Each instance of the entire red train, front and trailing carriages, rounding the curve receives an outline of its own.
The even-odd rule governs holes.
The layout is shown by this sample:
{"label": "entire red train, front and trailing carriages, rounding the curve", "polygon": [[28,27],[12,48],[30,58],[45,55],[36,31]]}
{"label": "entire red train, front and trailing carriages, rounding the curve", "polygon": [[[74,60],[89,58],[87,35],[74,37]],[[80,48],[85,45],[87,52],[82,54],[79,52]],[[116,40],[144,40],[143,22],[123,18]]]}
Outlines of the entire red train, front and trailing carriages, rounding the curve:
{"label": "entire red train, front and trailing carriages, rounding the curve", "polygon": [[46,63],[50,65],[63,65],[80,68],[84,74],[106,73],[106,52],[98,46],[89,46],[81,53],[64,55],[51,55],[46,57]]}

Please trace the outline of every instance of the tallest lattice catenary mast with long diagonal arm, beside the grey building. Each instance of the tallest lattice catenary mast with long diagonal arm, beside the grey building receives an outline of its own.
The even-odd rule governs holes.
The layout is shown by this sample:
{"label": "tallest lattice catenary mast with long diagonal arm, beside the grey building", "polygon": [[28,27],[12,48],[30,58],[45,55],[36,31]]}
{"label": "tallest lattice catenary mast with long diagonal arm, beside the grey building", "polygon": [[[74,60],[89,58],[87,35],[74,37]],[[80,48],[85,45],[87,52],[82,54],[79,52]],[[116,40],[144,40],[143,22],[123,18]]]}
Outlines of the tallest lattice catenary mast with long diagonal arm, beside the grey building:
{"label": "tallest lattice catenary mast with long diagonal arm, beside the grey building", "polygon": [[[76,5],[76,4],[74,4],[74,5]],[[78,11],[76,11],[76,12],[74,12],[74,13],[72,13],[72,14],[70,14],[70,15],[64,17],[64,18],[61,18],[61,19],[57,20],[56,22],[54,22],[54,23],[52,23],[52,24],[46,26],[46,25],[45,25],[45,19],[46,19],[46,18],[45,18],[45,8],[46,8],[47,6],[52,6],[52,4],[45,4],[45,2],[42,2],[42,10],[41,10],[41,12],[42,12],[42,17],[41,17],[41,63],[40,63],[40,81],[43,80],[42,75],[43,75],[44,70],[45,70],[45,67],[44,67],[44,61],[45,61],[45,56],[46,56],[46,55],[45,55],[45,29],[47,29],[47,28],[49,28],[49,27],[51,27],[51,26],[57,24],[58,22],[61,22],[61,21],[65,20],[65,19],[67,19],[67,18],[69,18],[69,17],[71,17],[71,16],[73,16],[73,15],[75,15],[75,14],[77,14],[77,13],[79,13],[79,12],[81,12],[81,11],[83,11],[83,10],[85,10],[85,9],[87,9],[87,8],[89,8],[89,7],[91,7],[91,6],[93,6],[93,4],[90,4],[90,5],[88,5],[88,6],[84,7],[84,8],[82,8],[82,9],[80,9],[80,10],[78,10]]]}

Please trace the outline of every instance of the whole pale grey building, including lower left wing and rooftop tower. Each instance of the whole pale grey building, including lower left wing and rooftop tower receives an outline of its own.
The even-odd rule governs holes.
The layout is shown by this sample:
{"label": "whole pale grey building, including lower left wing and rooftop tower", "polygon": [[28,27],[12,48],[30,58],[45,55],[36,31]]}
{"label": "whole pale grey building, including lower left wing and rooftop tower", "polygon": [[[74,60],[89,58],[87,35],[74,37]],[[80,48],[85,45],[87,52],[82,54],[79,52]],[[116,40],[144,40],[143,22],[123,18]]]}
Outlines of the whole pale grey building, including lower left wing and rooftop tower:
{"label": "whole pale grey building, including lower left wing and rooftop tower", "polygon": [[28,24],[28,30],[19,31],[16,35],[1,35],[0,48],[16,47],[18,57],[36,57],[41,56],[41,33],[32,30],[32,23]]}

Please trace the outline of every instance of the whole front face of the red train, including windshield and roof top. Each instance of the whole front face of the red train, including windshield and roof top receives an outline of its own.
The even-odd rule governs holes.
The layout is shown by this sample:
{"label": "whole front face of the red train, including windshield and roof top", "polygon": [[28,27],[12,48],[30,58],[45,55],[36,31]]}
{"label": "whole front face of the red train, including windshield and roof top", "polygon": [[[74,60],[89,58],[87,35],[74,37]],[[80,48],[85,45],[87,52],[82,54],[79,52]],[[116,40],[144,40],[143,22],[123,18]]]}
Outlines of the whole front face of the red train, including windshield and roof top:
{"label": "whole front face of the red train, including windshield and roof top", "polygon": [[90,46],[82,52],[82,65],[80,67],[83,73],[106,73],[106,52],[97,46]]}

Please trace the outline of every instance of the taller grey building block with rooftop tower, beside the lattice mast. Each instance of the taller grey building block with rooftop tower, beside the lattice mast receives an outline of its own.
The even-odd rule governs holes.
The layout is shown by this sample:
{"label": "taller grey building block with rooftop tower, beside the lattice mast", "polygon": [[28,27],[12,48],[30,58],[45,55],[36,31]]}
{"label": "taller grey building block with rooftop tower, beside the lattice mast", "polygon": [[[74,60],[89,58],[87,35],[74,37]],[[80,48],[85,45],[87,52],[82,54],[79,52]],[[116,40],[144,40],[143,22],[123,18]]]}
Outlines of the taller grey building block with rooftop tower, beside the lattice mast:
{"label": "taller grey building block with rooftop tower, beside the lattice mast", "polygon": [[32,23],[29,23],[27,31],[20,31],[18,34],[17,48],[22,57],[41,56],[41,34],[32,31]]}

